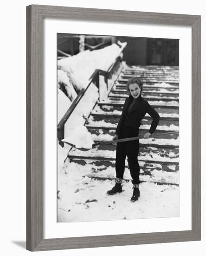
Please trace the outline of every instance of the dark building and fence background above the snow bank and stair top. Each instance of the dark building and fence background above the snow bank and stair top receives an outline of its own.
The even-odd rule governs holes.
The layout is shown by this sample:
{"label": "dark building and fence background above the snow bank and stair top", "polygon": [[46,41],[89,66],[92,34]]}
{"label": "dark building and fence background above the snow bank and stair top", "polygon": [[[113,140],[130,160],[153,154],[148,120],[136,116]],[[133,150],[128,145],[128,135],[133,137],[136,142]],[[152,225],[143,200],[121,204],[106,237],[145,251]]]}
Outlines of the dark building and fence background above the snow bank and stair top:
{"label": "dark building and fence background above the snow bank and stair top", "polygon": [[[95,50],[112,43],[127,42],[123,60],[128,65],[166,65],[179,66],[179,40],[125,36],[85,35],[85,50]],[[79,35],[58,34],[58,50],[66,54],[79,53]],[[63,54],[58,52],[58,58]]]}

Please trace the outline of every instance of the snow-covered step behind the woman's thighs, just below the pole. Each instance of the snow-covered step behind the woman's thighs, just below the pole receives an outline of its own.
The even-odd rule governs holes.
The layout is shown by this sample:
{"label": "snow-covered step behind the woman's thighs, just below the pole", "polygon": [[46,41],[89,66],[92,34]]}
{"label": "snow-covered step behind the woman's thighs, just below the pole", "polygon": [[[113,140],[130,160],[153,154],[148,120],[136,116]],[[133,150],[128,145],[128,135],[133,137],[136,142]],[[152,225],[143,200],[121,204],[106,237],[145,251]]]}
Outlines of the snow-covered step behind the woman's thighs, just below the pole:
{"label": "snow-covered step behind the woman's thighs, just below the pole", "polygon": [[[72,148],[69,152],[69,158],[114,160],[116,158],[116,152],[114,150],[99,150],[97,147],[88,151]],[[170,154],[165,153],[165,155],[160,155],[158,151],[153,152],[153,148],[151,148],[149,154],[148,152],[139,152],[138,159],[151,163],[179,164],[178,154],[171,151]]]}

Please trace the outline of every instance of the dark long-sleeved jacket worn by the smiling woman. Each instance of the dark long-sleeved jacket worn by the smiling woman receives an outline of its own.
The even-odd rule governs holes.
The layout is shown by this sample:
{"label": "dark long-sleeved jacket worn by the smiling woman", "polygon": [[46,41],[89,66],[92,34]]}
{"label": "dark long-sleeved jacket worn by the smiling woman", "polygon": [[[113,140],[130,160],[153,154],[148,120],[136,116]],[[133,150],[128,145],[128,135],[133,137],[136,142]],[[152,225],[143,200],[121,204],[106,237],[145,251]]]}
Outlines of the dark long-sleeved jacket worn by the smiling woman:
{"label": "dark long-sleeved jacket worn by the smiling woman", "polygon": [[153,134],[160,120],[160,115],[156,110],[149,105],[148,101],[142,98],[141,94],[135,105],[131,108],[129,113],[127,113],[127,108],[129,104],[133,101],[133,97],[130,95],[129,98],[124,102],[122,115],[116,127],[116,134],[119,135],[122,130],[123,124],[129,127],[139,128],[141,125],[141,120],[148,113],[152,117],[152,123],[148,132]]}

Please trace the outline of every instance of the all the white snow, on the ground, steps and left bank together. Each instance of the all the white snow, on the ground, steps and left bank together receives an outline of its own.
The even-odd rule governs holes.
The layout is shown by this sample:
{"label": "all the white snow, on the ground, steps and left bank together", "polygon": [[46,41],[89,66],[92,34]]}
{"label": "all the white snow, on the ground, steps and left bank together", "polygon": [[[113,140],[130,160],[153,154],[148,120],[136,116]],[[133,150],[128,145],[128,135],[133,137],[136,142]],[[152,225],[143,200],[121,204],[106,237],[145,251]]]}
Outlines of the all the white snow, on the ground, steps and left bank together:
{"label": "all the white snow, on the ground, steps and left bank together", "polygon": [[[58,61],[58,67],[62,69],[58,72],[58,82],[64,83],[65,88],[71,84],[77,90],[85,88],[94,68],[107,70],[118,56],[118,51],[120,48],[112,45],[110,48],[106,47],[106,49],[92,52],[85,51],[71,58]],[[137,67],[137,69],[148,70],[141,67]],[[109,87],[111,87],[114,77],[112,79],[109,81]],[[166,88],[170,85],[161,83],[158,86]],[[66,91],[69,91],[68,88]],[[71,105],[71,101],[61,90],[58,90],[58,94],[59,118]],[[73,142],[72,144],[78,148],[91,148],[94,141],[107,141],[112,138],[111,135],[104,134],[103,130],[99,130],[99,135],[90,134],[86,127],[109,127],[113,131],[116,128],[117,123],[112,124],[104,120],[93,121],[92,117],[88,120],[90,121],[89,125],[84,126],[84,122],[88,119],[90,111],[98,100],[98,95],[97,87],[91,84],[65,124],[64,140]],[[169,99],[170,101],[165,103],[161,97],[161,101],[151,101],[151,104],[156,102],[157,105],[178,106],[172,97]],[[175,97],[175,99],[177,98]],[[64,107],[64,105],[66,106]],[[100,113],[99,110],[98,108],[97,113]],[[114,113],[120,112],[114,111]],[[171,117],[171,114],[165,114],[162,116]],[[177,114],[174,115],[174,117],[177,116]],[[149,128],[150,125],[140,127],[140,129]],[[179,127],[171,124],[170,126],[158,126],[157,130],[179,130]],[[147,148],[147,153],[140,152],[138,156],[141,167],[141,196],[137,202],[130,202],[133,190],[127,161],[124,173],[126,180],[122,182],[123,192],[116,195],[106,194],[106,191],[115,184],[116,152],[114,150],[103,150],[100,149],[101,147],[99,149],[95,147],[89,151],[80,151],[73,148],[68,155],[68,149],[71,147],[64,143],[64,148],[61,148],[58,144],[58,222],[179,216],[178,150],[165,150],[164,148],[160,150],[154,145],[178,146],[179,139],[149,138],[141,139],[140,143],[149,143],[150,146]],[[71,159],[70,156],[76,156],[76,158]]]}

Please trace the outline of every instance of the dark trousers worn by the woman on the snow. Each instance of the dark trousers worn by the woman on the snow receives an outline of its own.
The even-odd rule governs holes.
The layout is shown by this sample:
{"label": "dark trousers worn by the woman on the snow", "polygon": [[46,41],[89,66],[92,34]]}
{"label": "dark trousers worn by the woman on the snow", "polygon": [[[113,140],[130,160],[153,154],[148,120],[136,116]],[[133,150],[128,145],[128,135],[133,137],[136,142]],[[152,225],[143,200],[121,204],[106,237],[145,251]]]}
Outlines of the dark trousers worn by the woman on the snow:
{"label": "dark trousers worn by the woman on the snow", "polygon": [[[119,139],[135,137],[139,135],[139,128],[123,125]],[[130,175],[133,184],[140,183],[140,166],[138,163],[139,140],[118,142],[116,145],[116,177],[123,179],[125,159],[127,156]]]}

